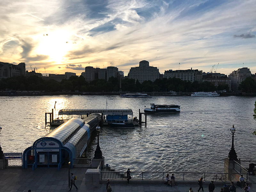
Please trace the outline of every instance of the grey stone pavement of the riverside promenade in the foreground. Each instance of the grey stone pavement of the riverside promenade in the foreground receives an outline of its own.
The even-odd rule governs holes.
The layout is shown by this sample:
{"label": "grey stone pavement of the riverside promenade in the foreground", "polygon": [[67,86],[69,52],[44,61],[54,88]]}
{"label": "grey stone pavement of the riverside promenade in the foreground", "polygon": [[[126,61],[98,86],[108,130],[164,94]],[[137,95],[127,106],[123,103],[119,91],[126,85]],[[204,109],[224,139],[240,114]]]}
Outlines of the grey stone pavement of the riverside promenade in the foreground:
{"label": "grey stone pavement of the riverside promenade in the foreground", "polygon": [[[76,186],[80,192],[106,192],[106,181],[102,181],[97,186],[85,185],[85,168],[73,168],[70,173],[77,176]],[[255,178],[256,180],[256,178]],[[112,192],[188,192],[192,187],[196,192],[198,189],[197,181],[178,181],[178,186],[170,187],[164,185],[164,181],[138,181],[130,180],[116,181],[111,180],[110,185]],[[208,192],[209,181],[204,183],[204,191]],[[227,182],[229,184],[229,182]],[[215,192],[219,192],[224,183],[215,182]],[[256,192],[252,186],[250,192]],[[7,168],[0,170],[0,192],[66,192],[68,191],[68,168],[62,168],[57,171],[56,168],[37,168],[32,171],[31,168]],[[73,186],[71,191],[76,191]],[[201,191],[201,190],[200,190]],[[241,188],[236,187],[237,192],[244,192]]]}

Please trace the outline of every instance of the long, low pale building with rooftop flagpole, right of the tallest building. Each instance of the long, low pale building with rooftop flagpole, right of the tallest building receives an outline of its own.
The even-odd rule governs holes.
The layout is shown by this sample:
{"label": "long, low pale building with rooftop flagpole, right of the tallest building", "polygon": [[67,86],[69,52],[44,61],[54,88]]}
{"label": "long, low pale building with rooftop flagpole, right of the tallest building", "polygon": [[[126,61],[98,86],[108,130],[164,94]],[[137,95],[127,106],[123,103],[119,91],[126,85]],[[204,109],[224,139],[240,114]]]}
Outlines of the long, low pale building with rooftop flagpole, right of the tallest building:
{"label": "long, low pale building with rooftop flagpole, right of the tallest building", "polygon": [[194,81],[198,81],[202,83],[202,73],[203,71],[199,71],[198,69],[187,69],[187,70],[175,70],[172,69],[168,71],[164,71],[164,78],[179,78],[183,81],[190,81],[193,83]]}

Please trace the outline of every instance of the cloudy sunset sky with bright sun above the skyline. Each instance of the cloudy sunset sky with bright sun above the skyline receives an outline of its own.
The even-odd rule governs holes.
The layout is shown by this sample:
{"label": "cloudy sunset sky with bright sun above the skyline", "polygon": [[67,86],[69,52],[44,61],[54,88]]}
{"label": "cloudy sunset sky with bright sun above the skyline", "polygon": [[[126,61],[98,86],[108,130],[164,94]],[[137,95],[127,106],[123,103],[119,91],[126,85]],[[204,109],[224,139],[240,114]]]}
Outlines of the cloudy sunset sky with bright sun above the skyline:
{"label": "cloudy sunset sky with bright sun above the skyline", "polygon": [[255,0],[1,0],[0,61],[44,76],[87,66],[126,76],[141,60],[161,74],[254,74],[255,8]]}

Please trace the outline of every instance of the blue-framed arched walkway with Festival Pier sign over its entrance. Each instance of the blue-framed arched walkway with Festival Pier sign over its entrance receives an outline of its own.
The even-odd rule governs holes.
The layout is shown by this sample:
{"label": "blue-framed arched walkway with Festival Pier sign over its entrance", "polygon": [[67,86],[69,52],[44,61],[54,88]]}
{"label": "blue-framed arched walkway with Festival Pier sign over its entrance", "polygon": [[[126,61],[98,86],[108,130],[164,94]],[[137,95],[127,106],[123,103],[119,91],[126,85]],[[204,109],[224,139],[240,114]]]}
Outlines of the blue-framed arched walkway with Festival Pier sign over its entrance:
{"label": "blue-framed arched walkway with Festival Pier sign over its entrance", "polygon": [[37,139],[33,146],[23,152],[23,168],[58,167],[80,158],[87,148],[93,130],[101,122],[100,114],[84,119],[71,118],[44,137]]}

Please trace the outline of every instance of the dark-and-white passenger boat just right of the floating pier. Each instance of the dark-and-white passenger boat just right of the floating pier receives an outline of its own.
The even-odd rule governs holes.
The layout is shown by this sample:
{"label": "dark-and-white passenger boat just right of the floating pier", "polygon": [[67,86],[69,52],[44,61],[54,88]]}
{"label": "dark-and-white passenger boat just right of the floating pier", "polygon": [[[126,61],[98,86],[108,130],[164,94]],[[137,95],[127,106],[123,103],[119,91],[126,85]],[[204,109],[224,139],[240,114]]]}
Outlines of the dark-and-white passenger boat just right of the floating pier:
{"label": "dark-and-white passenger boat just right of the floating pier", "polygon": [[156,105],[150,103],[150,108],[144,109],[145,113],[178,113],[180,112],[180,105]]}

